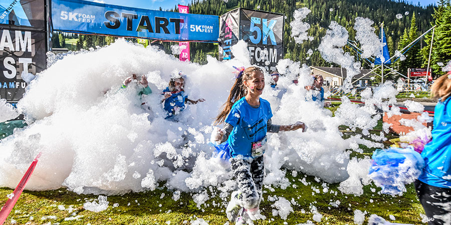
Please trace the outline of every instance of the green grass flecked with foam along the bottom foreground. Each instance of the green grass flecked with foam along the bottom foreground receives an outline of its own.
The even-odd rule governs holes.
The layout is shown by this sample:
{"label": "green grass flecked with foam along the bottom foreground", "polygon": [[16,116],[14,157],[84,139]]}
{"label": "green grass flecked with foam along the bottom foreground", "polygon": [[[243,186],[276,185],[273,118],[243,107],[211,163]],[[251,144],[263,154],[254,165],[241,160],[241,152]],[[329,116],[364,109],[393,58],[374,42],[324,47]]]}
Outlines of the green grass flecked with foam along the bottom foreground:
{"label": "green grass flecked with foam along the bottom foreground", "polygon": [[[338,104],[334,104],[330,109],[334,110],[337,106]],[[346,128],[340,126],[344,138],[360,132]],[[371,132],[378,133],[381,128],[380,121]],[[392,134],[386,136],[387,138],[396,137]],[[388,141],[384,144],[389,145]],[[360,147],[364,152],[353,152],[351,157],[370,156],[375,150],[363,145]],[[407,186],[407,192],[403,196],[380,195],[377,193],[380,188],[373,184],[364,186],[362,195],[354,196],[340,192],[338,183],[323,183],[315,177],[300,172],[294,177],[292,171],[286,172],[291,186],[286,189],[264,187],[264,199],[260,207],[267,219],[258,220],[255,224],[284,224],[284,222],[285,224],[302,224],[307,220],[313,221],[313,214],[309,209],[311,205],[316,206],[323,216],[320,222],[313,221],[314,224],[354,224],[355,209],[366,211],[366,219],[370,214],[375,213],[387,220],[389,215],[394,215],[396,219],[392,222],[422,224],[420,213],[424,211],[416,198],[412,184]],[[0,188],[0,205],[6,202],[7,194],[12,191],[10,188]],[[85,210],[83,204],[96,199],[96,195],[79,195],[64,188],[47,191],[27,190],[21,195],[6,224],[191,224],[198,218],[204,219],[208,224],[227,224],[224,210],[229,197],[225,201],[221,199],[217,195],[220,191],[216,188],[208,192],[213,197],[200,207],[197,207],[193,201],[192,193],[181,193],[180,199],[174,201],[173,191],[157,188],[149,192],[108,196],[108,208],[104,211],[92,212]],[[272,214],[274,201],[271,201],[271,198],[275,196],[284,197],[292,202],[293,212],[286,220]],[[334,206],[333,202],[335,202]]]}

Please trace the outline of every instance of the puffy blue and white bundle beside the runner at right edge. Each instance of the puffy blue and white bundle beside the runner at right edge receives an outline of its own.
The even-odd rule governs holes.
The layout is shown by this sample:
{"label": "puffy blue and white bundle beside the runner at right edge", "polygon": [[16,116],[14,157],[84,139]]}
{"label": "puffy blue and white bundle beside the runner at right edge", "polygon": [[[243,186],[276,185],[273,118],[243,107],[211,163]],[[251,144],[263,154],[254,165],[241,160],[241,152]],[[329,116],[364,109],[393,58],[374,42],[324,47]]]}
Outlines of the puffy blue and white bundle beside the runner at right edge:
{"label": "puffy blue and white bundle beside the runner at right edge", "polygon": [[412,183],[422,173],[424,160],[412,146],[376,149],[372,156],[369,176],[381,193],[402,195],[405,184]]}

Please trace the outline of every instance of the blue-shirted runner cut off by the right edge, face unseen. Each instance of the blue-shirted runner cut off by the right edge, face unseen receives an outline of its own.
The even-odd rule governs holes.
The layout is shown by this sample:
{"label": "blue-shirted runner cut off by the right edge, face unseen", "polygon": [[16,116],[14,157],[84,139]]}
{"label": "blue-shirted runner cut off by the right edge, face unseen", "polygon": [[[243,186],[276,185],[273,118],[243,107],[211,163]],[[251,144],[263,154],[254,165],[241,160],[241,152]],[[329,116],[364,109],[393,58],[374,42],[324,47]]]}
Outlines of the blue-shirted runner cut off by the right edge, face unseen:
{"label": "blue-shirted runner cut off by the right edge, face unseen", "polygon": [[451,71],[431,86],[435,105],[432,140],[421,156],[426,166],[415,181],[415,189],[426,216],[432,224],[451,223]]}

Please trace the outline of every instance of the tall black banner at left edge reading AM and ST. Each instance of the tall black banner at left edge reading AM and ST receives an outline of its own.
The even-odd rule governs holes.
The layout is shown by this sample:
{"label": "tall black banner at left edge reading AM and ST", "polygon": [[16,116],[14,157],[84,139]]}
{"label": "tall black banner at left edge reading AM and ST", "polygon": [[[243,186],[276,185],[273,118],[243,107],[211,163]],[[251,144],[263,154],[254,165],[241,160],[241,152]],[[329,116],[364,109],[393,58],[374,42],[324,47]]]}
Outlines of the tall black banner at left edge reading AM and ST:
{"label": "tall black banner at left edge reading AM and ST", "polygon": [[27,86],[24,79],[47,67],[46,1],[1,2],[0,97],[17,102]]}

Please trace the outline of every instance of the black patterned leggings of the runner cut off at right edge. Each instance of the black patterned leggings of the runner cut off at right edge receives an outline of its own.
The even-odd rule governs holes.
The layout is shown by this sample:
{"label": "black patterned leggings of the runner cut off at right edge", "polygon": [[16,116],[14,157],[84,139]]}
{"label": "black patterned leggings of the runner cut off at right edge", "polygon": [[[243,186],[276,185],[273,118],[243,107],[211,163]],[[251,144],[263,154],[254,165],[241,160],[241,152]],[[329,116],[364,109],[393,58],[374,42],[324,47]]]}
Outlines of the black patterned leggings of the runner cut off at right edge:
{"label": "black patterned leggings of the runner cut off at right edge", "polygon": [[416,194],[423,205],[429,225],[451,224],[451,188],[441,188],[415,181]]}

